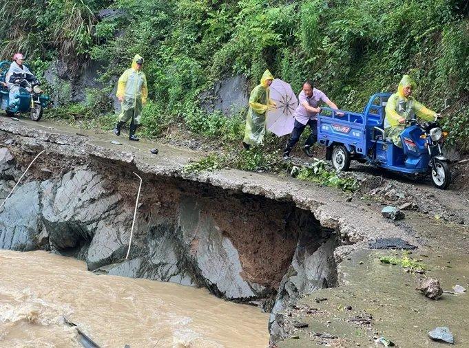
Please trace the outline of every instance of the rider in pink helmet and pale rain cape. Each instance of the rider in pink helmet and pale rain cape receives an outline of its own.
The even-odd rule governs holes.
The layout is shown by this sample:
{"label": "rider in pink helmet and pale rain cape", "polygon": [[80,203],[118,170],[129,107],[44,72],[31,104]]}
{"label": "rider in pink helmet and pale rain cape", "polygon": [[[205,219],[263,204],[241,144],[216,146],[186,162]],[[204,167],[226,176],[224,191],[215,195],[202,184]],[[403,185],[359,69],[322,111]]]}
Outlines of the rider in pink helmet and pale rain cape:
{"label": "rider in pink helmet and pale rain cape", "polygon": [[30,72],[30,69],[23,65],[24,57],[23,54],[17,53],[13,56],[13,62],[10,65],[10,69],[6,73],[5,82],[7,87],[10,89],[10,109],[14,109],[19,105],[19,94],[20,87],[28,87],[28,83],[39,85],[39,81],[36,76]]}

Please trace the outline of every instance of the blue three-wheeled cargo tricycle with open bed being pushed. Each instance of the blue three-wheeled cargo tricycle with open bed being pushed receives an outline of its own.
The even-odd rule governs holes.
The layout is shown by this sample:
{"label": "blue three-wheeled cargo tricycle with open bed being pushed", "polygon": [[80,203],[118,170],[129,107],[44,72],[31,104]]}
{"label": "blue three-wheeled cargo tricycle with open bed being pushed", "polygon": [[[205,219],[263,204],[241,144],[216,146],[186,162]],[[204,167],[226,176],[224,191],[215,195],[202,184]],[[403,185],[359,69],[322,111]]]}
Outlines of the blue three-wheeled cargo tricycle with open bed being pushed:
{"label": "blue three-wheeled cargo tricycle with open bed being pushed", "polygon": [[326,160],[337,171],[348,170],[351,160],[408,174],[426,173],[430,168],[433,184],[447,188],[451,172],[441,153],[445,133],[436,120],[419,123],[412,119],[401,135],[403,148],[395,146],[383,127],[390,95],[374,94],[363,113],[322,108],[317,116],[317,141],[326,146]]}

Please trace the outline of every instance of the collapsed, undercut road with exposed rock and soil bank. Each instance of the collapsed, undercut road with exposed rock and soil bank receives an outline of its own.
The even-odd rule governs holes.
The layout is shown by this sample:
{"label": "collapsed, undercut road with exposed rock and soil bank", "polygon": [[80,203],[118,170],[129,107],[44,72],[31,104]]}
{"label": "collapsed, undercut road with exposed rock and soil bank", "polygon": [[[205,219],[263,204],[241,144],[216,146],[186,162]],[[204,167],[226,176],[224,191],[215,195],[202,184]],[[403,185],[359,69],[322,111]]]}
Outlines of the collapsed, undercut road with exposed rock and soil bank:
{"label": "collapsed, undercut road with exposed rock and soil bank", "polygon": [[[279,347],[366,346],[378,336],[428,346],[426,331],[438,326],[450,327],[456,345],[469,344],[466,294],[431,301],[415,291],[415,273],[379,262],[400,252],[370,248],[402,240],[446,289],[467,287],[467,193],[440,194],[366,167],[358,168],[364,188],[353,197],[273,174],[187,173],[196,151],[158,144],[152,155],[149,142],[112,140],[1,118],[0,199],[45,152],[0,211],[0,248],[50,250],[97,273],[207,287],[258,305],[271,313],[271,343]],[[138,190],[132,172],[143,186],[125,260]],[[383,204],[406,200],[415,206],[403,220],[381,216]]]}

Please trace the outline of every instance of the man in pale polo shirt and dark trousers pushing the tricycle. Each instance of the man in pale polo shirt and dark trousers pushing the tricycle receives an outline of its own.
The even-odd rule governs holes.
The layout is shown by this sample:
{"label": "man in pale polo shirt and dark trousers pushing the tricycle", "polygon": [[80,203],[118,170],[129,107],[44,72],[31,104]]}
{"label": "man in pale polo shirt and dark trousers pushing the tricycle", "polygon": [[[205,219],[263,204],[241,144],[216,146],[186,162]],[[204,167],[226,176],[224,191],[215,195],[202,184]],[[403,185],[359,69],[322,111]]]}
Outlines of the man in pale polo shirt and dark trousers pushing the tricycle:
{"label": "man in pale polo shirt and dark trousers pushing the tricycle", "polygon": [[[306,126],[311,128],[311,135],[306,139],[303,151],[309,157],[313,157],[311,146],[317,142],[317,113],[321,111],[319,105],[321,102],[325,102],[332,109],[337,109],[337,105],[331,102],[322,91],[313,88],[309,81],[303,84],[303,89],[298,95],[298,101],[298,107],[293,113],[295,117],[295,127],[293,128],[293,132],[291,132],[289,141],[286,143],[283,152],[284,158],[290,156],[291,149],[293,149],[293,146],[300,140],[300,136]],[[337,115],[342,116],[342,113],[337,113]]]}

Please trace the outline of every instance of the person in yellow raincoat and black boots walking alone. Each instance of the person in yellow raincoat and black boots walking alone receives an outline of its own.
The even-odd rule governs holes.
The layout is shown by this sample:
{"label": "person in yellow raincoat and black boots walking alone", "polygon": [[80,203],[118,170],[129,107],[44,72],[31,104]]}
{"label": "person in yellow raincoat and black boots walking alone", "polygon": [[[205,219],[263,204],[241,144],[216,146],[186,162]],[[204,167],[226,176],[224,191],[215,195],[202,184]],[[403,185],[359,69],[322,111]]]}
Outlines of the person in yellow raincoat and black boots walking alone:
{"label": "person in yellow raincoat and black boots walking alone", "polygon": [[125,70],[117,83],[116,97],[121,102],[121,113],[114,128],[114,134],[121,135],[121,127],[129,120],[129,140],[138,142],[135,131],[140,124],[143,105],[147,102],[147,78],[142,72],[143,57],[136,54],[132,67]]}

